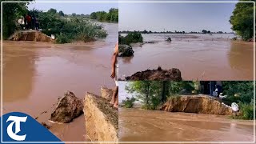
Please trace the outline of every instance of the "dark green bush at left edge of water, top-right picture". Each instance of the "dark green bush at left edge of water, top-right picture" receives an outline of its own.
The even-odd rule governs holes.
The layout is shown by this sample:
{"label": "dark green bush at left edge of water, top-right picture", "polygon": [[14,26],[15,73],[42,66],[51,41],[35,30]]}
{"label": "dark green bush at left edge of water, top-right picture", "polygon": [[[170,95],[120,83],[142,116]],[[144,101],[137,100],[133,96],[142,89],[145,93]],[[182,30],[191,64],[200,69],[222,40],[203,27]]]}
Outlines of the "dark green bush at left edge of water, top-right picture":
{"label": "dark green bush at left edge of water, top-right picture", "polygon": [[139,32],[130,32],[125,37],[121,34],[118,35],[118,42],[124,45],[130,45],[130,43],[143,42],[142,34]]}

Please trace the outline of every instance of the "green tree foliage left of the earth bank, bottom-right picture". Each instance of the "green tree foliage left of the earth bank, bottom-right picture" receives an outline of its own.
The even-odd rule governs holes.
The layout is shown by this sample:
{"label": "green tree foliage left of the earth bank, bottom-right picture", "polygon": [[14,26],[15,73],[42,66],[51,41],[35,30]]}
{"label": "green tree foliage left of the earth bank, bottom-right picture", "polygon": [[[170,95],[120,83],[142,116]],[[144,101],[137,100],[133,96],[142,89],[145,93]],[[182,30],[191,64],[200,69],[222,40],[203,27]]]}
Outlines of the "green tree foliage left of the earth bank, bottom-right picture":
{"label": "green tree foliage left of the earth bank, bottom-right picture", "polygon": [[170,96],[181,94],[182,90],[194,90],[194,82],[136,81],[126,86],[128,93],[136,94],[143,108],[154,110]]}

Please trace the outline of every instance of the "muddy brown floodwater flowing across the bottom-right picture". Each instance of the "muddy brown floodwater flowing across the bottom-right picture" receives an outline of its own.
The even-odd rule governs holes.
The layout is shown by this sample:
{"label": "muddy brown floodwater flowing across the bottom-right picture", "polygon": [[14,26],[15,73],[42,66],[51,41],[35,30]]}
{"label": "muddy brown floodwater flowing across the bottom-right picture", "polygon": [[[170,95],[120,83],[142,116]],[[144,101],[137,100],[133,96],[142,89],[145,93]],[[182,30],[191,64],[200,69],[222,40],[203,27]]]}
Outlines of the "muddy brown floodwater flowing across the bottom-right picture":
{"label": "muddy brown floodwater flowing across the bottom-right picture", "polygon": [[253,142],[254,122],[212,114],[119,108],[119,142]]}

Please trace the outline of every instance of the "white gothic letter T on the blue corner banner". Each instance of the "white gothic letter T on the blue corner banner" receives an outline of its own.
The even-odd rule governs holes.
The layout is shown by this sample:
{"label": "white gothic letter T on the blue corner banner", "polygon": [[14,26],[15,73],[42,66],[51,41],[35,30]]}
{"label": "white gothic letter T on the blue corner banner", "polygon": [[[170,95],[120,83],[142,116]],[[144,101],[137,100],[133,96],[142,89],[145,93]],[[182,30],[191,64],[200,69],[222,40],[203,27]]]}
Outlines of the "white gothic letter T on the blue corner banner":
{"label": "white gothic letter T on the blue corner banner", "polygon": [[[27,117],[17,117],[17,116],[9,116],[6,122],[10,122],[10,125],[7,126],[7,134],[10,138],[16,140],[16,141],[24,141],[26,139],[26,134],[24,135],[18,135],[18,132],[21,131],[21,122],[26,122]],[[15,124],[13,131],[13,126]]]}

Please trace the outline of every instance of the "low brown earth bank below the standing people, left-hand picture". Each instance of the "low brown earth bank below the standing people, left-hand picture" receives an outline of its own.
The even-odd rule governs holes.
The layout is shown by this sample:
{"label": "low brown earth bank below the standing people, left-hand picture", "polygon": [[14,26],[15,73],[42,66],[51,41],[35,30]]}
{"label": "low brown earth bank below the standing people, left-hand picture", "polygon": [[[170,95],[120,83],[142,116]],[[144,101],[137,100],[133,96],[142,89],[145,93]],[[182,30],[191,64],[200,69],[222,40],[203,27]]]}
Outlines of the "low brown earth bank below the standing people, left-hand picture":
{"label": "low brown earth bank below the standing people, left-hand picture", "polygon": [[52,42],[53,39],[46,34],[42,34],[38,30],[20,30],[8,38],[11,41],[36,41],[36,42]]}

